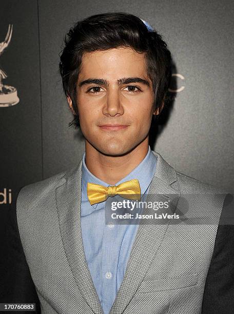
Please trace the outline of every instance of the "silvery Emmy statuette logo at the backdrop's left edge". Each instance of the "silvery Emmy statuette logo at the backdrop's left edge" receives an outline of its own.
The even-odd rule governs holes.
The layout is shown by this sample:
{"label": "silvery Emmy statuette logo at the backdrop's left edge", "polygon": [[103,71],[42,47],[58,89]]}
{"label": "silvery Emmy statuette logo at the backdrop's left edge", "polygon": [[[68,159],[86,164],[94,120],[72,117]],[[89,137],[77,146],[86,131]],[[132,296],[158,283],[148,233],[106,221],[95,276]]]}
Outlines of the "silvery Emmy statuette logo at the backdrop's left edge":
{"label": "silvery Emmy statuette logo at the backdrop's left edge", "polygon": [[[11,41],[13,25],[9,24],[5,41],[0,43],[0,57]],[[7,77],[6,72],[0,68],[0,107],[10,107],[19,102],[17,89],[13,86],[4,85],[3,80]]]}

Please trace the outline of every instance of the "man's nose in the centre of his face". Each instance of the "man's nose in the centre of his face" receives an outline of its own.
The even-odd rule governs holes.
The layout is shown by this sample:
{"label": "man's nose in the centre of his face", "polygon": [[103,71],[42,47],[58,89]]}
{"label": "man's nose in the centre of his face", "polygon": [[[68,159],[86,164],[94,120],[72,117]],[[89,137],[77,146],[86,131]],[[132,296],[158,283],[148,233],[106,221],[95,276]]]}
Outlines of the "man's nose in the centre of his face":
{"label": "man's nose in the centre of his face", "polygon": [[115,116],[122,115],[124,108],[121,104],[121,95],[118,89],[109,90],[106,97],[106,103],[103,107],[103,114]]}

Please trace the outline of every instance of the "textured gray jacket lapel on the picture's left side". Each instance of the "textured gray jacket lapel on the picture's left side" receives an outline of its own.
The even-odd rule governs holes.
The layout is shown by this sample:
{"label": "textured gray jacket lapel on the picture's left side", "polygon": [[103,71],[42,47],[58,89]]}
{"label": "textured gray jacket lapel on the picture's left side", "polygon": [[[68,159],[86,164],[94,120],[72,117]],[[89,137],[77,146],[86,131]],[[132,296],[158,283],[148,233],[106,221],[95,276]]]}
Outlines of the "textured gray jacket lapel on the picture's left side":
{"label": "textured gray jacket lapel on the picture's left side", "polygon": [[56,188],[56,206],[67,260],[82,296],[96,314],[103,313],[88,268],[81,231],[82,161],[66,172]]}

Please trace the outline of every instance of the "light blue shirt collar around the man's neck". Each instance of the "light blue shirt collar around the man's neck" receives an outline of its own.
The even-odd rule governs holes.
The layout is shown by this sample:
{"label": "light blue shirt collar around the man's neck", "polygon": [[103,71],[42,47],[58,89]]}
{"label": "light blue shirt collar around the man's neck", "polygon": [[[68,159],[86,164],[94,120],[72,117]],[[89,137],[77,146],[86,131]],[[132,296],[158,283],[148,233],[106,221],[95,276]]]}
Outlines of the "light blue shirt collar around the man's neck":
{"label": "light blue shirt collar around the man's neck", "polygon": [[[157,164],[157,157],[152,153],[149,146],[148,152],[145,158],[143,159],[143,161],[138,166],[136,166],[129,174],[127,174],[123,179],[117,182],[115,185],[119,185],[120,183],[129,181],[132,179],[138,179],[140,183],[140,187],[141,187],[141,194],[143,196],[143,194],[149,187],[150,182],[152,181],[156,164]],[[99,178],[97,178],[88,170],[85,163],[85,152],[84,152],[83,157],[82,157],[82,198],[83,200],[87,200],[87,201],[88,201],[88,197],[87,197],[87,183],[88,182],[101,184],[106,187],[110,185],[100,180]],[[93,208],[96,208],[97,205],[98,204],[93,204],[91,206]]]}

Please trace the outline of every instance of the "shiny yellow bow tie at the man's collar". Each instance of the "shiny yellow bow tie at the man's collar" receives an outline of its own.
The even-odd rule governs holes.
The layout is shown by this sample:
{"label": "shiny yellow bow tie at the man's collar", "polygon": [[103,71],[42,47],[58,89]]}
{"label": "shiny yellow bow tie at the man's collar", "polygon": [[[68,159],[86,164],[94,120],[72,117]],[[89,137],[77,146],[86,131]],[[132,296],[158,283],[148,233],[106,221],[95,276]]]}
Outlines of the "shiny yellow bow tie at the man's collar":
{"label": "shiny yellow bow tie at the man's collar", "polygon": [[106,201],[108,197],[120,195],[130,200],[141,200],[141,188],[137,179],[123,182],[119,185],[105,187],[100,184],[87,183],[87,195],[91,205]]}

